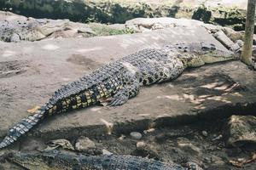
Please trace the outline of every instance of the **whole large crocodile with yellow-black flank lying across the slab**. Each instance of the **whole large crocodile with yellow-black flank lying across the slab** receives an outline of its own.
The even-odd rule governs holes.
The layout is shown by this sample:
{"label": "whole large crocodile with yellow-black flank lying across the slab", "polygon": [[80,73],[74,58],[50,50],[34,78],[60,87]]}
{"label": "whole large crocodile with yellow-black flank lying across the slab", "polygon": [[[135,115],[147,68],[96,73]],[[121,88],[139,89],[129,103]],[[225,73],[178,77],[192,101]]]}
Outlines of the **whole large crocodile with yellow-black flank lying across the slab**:
{"label": "whole large crocodile with yellow-black flank lying across the slab", "polygon": [[140,86],[175,79],[188,67],[230,59],[236,59],[236,55],[203,42],[146,48],[127,55],[55,91],[49,102],[34,115],[10,128],[0,149],[14,143],[46,116],[109,100],[109,105],[123,105],[139,93]]}

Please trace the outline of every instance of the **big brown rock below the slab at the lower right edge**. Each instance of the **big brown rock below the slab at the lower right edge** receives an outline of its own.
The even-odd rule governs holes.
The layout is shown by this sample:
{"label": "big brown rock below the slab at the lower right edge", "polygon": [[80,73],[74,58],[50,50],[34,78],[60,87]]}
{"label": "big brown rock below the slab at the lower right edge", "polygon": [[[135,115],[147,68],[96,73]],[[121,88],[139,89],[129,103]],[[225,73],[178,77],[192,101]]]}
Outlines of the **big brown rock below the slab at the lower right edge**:
{"label": "big brown rock below the slab at the lower right edge", "polygon": [[256,144],[256,116],[230,116],[224,134],[229,146]]}

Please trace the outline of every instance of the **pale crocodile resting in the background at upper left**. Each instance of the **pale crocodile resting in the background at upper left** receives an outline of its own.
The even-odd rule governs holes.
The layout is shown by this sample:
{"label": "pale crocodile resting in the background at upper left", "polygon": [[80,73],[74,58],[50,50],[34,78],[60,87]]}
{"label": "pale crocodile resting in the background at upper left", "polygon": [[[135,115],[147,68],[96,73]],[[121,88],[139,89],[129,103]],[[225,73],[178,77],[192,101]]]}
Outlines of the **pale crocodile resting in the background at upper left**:
{"label": "pale crocodile resting in the background at upper left", "polygon": [[[79,33],[83,36],[93,34],[93,31],[84,24],[69,20],[33,19],[27,20],[0,20],[0,40],[4,42],[38,41],[46,37],[67,37],[65,31],[71,31],[70,37]],[[51,36],[53,34],[54,36]]]}

